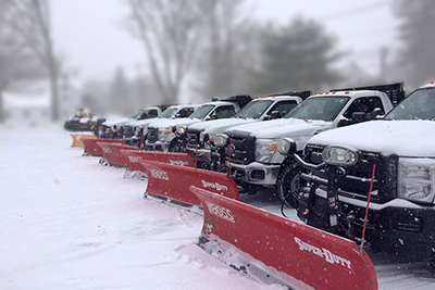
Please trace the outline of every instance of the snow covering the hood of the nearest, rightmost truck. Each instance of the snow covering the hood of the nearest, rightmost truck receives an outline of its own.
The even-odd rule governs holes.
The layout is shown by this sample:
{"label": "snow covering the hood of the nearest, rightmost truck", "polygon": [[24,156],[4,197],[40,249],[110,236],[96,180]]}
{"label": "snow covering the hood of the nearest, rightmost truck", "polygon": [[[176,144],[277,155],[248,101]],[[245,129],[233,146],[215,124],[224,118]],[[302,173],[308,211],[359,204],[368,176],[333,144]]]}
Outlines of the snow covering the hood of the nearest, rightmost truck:
{"label": "snow covering the hood of the nearest, rightmost truck", "polygon": [[348,146],[385,155],[435,156],[435,122],[366,122],[319,134],[309,143]]}

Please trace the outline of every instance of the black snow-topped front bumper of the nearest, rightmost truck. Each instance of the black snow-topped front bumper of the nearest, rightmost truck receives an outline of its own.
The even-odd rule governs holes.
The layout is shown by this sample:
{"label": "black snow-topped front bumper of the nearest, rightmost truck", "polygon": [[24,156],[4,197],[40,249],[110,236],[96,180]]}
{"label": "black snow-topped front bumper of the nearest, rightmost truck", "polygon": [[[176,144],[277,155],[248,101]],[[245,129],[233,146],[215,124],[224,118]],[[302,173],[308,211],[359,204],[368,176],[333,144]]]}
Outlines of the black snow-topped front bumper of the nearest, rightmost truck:
{"label": "black snow-topped front bumper of the nearest, rightmost truck", "polygon": [[[326,192],[316,189],[316,196],[325,199]],[[366,202],[340,196],[339,201],[341,216],[356,216],[352,231],[360,238]],[[323,202],[326,204],[326,199]],[[347,223],[345,218],[341,222]],[[385,204],[371,203],[365,240],[389,252],[431,255],[435,253],[435,206],[420,206],[402,199]]]}

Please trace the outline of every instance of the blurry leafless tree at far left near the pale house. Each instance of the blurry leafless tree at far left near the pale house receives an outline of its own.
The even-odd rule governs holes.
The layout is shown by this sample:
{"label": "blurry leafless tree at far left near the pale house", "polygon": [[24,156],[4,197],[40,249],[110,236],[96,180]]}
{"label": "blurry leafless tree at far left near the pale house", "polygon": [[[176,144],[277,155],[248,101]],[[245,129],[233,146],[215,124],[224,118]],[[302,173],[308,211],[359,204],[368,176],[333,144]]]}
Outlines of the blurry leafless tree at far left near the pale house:
{"label": "blurry leafless tree at far left near the pale house", "polygon": [[8,3],[5,23],[47,70],[50,79],[51,118],[59,119],[59,62],[54,53],[47,0],[1,0]]}

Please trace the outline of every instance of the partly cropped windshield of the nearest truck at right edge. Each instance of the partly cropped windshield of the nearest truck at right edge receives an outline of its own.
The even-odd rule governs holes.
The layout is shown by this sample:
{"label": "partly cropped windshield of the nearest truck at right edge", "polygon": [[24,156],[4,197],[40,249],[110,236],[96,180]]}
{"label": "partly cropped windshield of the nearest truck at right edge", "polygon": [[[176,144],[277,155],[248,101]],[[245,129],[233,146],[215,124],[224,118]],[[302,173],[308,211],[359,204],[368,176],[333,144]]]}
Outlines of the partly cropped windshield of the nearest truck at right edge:
{"label": "partly cropped windshield of the nearest truck at right edge", "polygon": [[385,119],[435,119],[435,88],[419,89],[391,110]]}

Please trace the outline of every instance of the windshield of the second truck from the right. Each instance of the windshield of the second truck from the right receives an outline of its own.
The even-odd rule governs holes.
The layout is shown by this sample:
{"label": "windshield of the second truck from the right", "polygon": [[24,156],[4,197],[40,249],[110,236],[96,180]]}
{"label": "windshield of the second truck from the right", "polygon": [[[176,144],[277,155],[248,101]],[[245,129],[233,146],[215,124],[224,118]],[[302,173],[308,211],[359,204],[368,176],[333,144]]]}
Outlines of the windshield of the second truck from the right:
{"label": "windshield of the second truck from the right", "polygon": [[314,97],[298,104],[286,118],[333,121],[349,101],[349,97]]}

